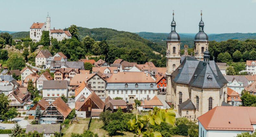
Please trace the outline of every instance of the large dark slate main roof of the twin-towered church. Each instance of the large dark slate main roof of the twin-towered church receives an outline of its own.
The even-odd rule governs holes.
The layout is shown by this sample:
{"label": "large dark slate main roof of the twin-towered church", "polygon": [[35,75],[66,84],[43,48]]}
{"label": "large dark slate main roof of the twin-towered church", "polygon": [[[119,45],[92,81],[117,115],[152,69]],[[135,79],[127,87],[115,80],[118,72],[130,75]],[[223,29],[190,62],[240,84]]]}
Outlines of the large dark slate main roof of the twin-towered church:
{"label": "large dark slate main roof of the twin-towered church", "polygon": [[[183,62],[171,73],[175,83],[189,84],[200,88],[220,88],[228,83],[214,61],[204,63],[192,56],[182,57]],[[186,57],[188,58],[184,59]],[[211,77],[212,81],[208,81],[208,77]]]}

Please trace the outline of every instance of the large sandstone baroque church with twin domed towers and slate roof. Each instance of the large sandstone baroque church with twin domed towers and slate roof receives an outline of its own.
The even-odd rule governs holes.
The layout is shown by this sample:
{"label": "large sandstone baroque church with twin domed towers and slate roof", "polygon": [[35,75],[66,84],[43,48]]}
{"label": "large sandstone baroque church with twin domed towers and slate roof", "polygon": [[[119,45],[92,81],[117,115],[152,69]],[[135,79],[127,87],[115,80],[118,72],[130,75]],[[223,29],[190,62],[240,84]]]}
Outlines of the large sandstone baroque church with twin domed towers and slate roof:
{"label": "large sandstone baroque church with twin domed towers and slate roof", "polygon": [[220,72],[208,52],[208,36],[204,33],[204,22],[199,22],[199,32],[195,35],[194,55],[189,55],[187,45],[180,54],[180,36],[176,32],[176,22],[171,22],[171,32],[167,37],[167,95],[166,101],[173,103],[174,110],[181,117],[191,120],[208,112],[215,106],[226,105],[227,80]]}

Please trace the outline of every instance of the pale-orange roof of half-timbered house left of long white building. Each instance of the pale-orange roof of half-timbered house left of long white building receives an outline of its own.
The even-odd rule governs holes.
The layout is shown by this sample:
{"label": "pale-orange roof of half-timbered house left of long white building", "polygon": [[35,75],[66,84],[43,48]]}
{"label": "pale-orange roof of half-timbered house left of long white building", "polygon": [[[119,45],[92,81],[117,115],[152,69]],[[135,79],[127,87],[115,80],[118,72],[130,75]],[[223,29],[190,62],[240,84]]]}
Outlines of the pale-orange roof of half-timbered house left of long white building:
{"label": "pale-orange roof of half-timbered house left of long white building", "polygon": [[83,81],[87,82],[94,74],[76,74],[71,80],[70,85],[80,85]]}

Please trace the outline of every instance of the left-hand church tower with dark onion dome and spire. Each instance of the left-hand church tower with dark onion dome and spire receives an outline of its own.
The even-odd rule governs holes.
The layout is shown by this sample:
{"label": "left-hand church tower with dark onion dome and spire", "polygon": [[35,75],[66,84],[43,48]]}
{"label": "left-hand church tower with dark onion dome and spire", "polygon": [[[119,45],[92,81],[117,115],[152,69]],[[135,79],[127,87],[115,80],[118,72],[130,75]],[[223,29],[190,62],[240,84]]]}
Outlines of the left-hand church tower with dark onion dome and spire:
{"label": "left-hand church tower with dark onion dome and spire", "polygon": [[180,36],[176,33],[176,22],[173,19],[171,22],[171,32],[166,40],[166,75],[167,75],[167,96],[166,100],[171,101],[171,73],[174,72],[180,65]]}

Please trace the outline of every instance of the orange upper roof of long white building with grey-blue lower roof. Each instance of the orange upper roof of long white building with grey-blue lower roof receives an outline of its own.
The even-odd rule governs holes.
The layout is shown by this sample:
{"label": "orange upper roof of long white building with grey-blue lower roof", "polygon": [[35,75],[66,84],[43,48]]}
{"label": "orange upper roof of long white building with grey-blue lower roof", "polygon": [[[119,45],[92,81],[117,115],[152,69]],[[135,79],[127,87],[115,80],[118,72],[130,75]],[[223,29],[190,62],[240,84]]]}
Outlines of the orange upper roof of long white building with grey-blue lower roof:
{"label": "orange upper roof of long white building with grey-blue lower roof", "polygon": [[107,80],[108,83],[155,83],[144,72],[118,72],[113,73]]}

